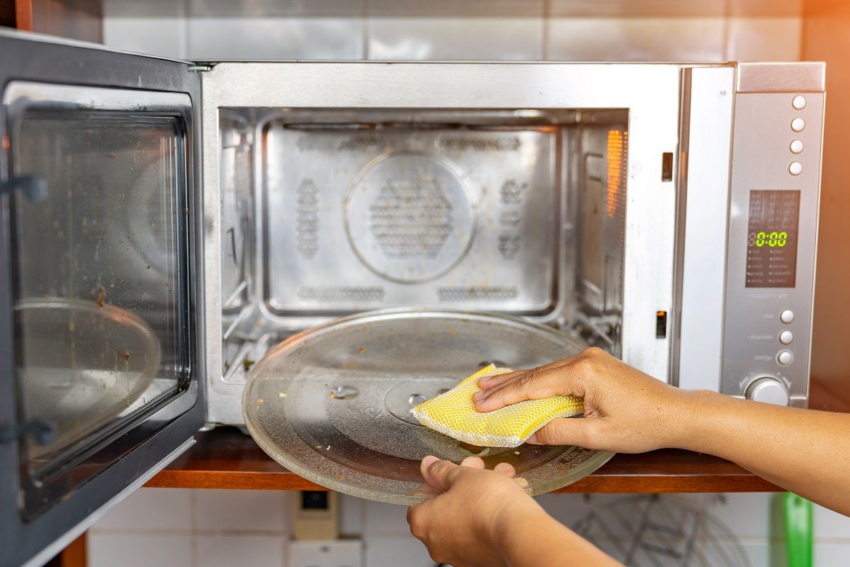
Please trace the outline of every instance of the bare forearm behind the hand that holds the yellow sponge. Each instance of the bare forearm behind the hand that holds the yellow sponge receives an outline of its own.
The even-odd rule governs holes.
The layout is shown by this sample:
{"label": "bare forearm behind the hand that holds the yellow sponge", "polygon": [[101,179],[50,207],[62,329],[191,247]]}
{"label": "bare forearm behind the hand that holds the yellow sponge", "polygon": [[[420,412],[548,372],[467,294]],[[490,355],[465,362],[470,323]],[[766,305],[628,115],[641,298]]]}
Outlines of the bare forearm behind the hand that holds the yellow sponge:
{"label": "bare forearm behind the hand that holds the yellow sponge", "polygon": [[671,445],[722,456],[785,490],[850,515],[850,415],[689,393]]}

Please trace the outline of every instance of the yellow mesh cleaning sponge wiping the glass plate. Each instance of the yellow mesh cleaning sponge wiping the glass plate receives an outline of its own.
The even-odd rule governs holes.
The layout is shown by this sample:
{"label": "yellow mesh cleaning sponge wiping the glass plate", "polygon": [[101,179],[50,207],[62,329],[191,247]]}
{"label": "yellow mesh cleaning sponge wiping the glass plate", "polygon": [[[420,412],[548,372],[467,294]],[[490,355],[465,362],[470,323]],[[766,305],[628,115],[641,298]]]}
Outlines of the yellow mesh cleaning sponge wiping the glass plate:
{"label": "yellow mesh cleaning sponge wiping the glass plate", "polygon": [[584,411],[581,398],[575,396],[525,400],[495,411],[477,411],[473,394],[481,389],[479,378],[506,372],[510,370],[487,366],[445,394],[416,405],[411,412],[422,425],[470,445],[517,447],[556,417],[575,416]]}

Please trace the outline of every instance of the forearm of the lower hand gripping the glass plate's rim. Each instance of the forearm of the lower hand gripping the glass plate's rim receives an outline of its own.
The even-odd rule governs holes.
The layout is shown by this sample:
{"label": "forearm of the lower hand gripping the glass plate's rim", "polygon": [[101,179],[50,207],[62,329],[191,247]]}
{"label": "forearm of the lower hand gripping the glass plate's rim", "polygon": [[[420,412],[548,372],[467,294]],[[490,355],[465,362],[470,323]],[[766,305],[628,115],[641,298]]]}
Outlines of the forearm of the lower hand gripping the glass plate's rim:
{"label": "forearm of the lower hand gripping the glass plate's rim", "polygon": [[537,505],[512,514],[496,541],[510,567],[620,565]]}

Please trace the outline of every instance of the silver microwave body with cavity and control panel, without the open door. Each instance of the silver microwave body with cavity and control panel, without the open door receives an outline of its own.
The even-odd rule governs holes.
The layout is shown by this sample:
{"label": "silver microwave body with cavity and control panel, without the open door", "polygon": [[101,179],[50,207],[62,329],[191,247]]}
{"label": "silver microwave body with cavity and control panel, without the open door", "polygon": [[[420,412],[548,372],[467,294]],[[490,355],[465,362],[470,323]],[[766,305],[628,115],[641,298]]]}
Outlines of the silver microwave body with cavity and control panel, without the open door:
{"label": "silver microwave body with cavity and control panel, without the open door", "polygon": [[200,72],[208,422],[282,338],[408,306],[806,405],[824,65]]}

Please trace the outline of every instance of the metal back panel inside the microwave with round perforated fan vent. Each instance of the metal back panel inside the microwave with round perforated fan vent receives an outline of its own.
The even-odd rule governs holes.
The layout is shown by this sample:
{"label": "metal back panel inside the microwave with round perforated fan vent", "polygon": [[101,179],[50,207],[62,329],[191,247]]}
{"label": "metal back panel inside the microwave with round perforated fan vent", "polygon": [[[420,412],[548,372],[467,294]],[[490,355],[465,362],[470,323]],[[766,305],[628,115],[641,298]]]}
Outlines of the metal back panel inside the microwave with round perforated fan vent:
{"label": "metal back panel inside the microwave with round perforated fan vent", "polygon": [[270,314],[558,303],[561,129],[292,120],[258,127]]}

